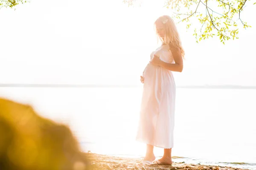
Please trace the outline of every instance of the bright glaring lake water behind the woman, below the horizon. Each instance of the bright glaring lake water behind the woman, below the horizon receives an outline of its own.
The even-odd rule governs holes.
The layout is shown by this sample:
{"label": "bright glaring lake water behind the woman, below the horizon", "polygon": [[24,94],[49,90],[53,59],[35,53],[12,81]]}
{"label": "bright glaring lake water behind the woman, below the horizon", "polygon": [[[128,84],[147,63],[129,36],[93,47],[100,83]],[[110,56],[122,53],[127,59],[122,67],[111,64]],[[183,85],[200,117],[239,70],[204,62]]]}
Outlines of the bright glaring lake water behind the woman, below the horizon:
{"label": "bright glaring lake water behind the woman, below the horizon", "polygon": [[[0,88],[0,96],[70,125],[84,151],[125,157],[145,152],[135,141],[141,94],[142,86]],[[256,170],[255,101],[256,89],[177,88],[173,161]]]}

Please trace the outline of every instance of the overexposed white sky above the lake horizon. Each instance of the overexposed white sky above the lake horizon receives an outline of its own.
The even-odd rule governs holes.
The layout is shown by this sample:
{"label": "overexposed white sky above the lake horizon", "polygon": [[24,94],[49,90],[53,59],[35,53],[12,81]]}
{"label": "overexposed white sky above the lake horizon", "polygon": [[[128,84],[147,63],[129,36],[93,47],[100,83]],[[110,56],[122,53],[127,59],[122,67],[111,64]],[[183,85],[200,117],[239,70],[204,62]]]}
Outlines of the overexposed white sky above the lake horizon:
{"label": "overexposed white sky above the lake horizon", "polygon": [[[247,6],[242,18],[253,28],[222,45],[199,44],[177,25],[186,61],[177,85],[256,85],[256,20]],[[140,84],[157,47],[153,23],[171,11],[159,0],[130,7],[122,0],[31,0],[0,10],[0,83]]]}

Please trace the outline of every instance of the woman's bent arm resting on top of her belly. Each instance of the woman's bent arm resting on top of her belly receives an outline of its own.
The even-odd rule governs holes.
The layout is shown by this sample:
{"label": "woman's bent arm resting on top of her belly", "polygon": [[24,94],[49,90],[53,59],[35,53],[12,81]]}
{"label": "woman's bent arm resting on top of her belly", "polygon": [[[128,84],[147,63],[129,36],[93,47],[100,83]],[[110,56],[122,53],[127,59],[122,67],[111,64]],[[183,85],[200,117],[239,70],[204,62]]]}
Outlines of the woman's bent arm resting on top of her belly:
{"label": "woman's bent arm resting on top of her belly", "polygon": [[171,64],[171,63],[168,63],[168,62],[163,62],[157,56],[154,56],[151,63],[153,65],[161,66],[161,67],[163,67],[167,70],[170,70],[170,71],[181,72],[183,70],[183,59],[182,59],[182,56],[181,56],[180,48],[173,49],[172,50],[172,56],[174,58],[175,64]]}

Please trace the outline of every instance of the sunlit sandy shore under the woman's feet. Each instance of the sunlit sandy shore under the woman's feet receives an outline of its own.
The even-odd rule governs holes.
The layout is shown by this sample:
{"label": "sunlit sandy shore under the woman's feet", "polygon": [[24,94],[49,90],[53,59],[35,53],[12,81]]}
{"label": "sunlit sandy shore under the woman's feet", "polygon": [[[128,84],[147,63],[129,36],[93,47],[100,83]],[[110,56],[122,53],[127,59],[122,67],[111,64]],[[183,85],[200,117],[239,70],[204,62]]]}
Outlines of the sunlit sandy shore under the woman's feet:
{"label": "sunlit sandy shore under the woman's feet", "polygon": [[156,164],[144,166],[141,164],[142,158],[122,158],[96,153],[85,154],[90,160],[90,169],[92,170],[246,170],[235,167],[185,164],[183,162],[173,162],[172,166]]}

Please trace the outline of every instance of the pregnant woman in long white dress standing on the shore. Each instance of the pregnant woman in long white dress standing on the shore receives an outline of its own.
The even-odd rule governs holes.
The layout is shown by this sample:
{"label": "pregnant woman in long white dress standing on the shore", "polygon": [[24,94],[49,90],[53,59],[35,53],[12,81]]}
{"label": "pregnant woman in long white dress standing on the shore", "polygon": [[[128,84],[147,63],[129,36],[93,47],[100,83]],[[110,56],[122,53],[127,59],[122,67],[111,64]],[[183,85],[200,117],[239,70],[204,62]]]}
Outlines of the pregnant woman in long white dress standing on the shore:
{"label": "pregnant woman in long white dress standing on the shore", "polygon": [[[144,86],[136,139],[147,144],[144,165],[171,165],[176,90],[172,71],[183,70],[184,50],[171,17],[161,16],[154,25],[162,45],[151,53],[140,77]],[[164,148],[163,157],[156,161],[154,146]]]}

